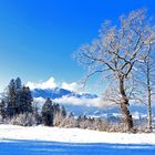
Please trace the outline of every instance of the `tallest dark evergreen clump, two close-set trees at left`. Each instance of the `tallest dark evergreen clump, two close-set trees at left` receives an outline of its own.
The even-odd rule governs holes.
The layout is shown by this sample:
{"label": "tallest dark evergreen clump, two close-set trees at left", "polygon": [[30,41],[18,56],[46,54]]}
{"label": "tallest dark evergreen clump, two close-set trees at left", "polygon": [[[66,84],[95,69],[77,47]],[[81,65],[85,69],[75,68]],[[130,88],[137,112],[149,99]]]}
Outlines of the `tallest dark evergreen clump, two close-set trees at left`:
{"label": "tallest dark evergreen clump, two close-set trees at left", "polygon": [[32,112],[32,95],[28,86],[22,86],[20,78],[11,80],[7,91],[7,115],[14,116],[20,113]]}

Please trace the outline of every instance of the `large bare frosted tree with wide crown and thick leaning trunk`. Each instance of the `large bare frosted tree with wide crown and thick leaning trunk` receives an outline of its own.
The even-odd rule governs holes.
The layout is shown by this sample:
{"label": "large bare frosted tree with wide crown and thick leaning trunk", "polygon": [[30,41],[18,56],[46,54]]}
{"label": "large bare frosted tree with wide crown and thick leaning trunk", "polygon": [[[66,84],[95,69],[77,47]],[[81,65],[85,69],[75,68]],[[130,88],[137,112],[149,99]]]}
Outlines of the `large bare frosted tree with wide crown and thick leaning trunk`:
{"label": "large bare frosted tree with wide crown and thick leaning trunk", "polygon": [[147,54],[147,44],[154,38],[154,33],[146,11],[132,11],[128,16],[120,18],[118,27],[104,22],[100,37],[92,44],[81,46],[75,54],[76,60],[89,70],[86,79],[100,73],[117,80],[121,94],[120,104],[127,131],[133,128],[133,118],[128,110],[125,82],[135,63],[142,55]]}

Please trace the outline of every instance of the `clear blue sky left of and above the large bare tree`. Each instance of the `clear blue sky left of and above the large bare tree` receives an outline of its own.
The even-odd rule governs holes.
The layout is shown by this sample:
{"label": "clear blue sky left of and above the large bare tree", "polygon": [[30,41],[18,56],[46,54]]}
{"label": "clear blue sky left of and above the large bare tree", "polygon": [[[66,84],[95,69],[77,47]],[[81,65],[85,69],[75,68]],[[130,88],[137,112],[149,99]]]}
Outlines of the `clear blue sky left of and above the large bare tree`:
{"label": "clear blue sky left of and above the large bare tree", "polygon": [[154,0],[1,0],[0,89],[17,76],[79,81],[84,72],[71,54],[104,20],[143,7],[155,14]]}

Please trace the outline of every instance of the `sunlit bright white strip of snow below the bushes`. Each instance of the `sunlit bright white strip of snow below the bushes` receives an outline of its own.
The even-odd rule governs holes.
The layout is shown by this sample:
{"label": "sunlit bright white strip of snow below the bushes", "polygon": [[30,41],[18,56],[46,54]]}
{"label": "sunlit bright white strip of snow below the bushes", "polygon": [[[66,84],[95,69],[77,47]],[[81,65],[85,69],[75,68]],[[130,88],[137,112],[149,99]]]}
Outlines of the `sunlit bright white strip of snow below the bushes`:
{"label": "sunlit bright white strip of snow below the bushes", "polygon": [[155,145],[155,134],[105,133],[80,128],[59,128],[16,125],[0,125],[0,142],[8,140],[45,141],[62,143],[106,143],[106,144],[151,144]]}

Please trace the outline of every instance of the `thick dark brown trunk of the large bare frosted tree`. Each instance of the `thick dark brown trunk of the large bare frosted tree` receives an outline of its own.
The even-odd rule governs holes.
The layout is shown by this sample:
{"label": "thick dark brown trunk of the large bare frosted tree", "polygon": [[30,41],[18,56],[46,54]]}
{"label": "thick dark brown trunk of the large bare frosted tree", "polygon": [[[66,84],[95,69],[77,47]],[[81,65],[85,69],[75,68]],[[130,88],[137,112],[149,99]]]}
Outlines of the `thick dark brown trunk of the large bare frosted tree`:
{"label": "thick dark brown trunk of the large bare frosted tree", "polygon": [[125,89],[124,89],[124,78],[120,79],[120,93],[121,93],[121,97],[122,97],[121,110],[124,115],[124,123],[126,125],[126,130],[132,131],[133,130],[133,117],[128,110],[130,104],[128,104],[128,99],[126,96]]}

